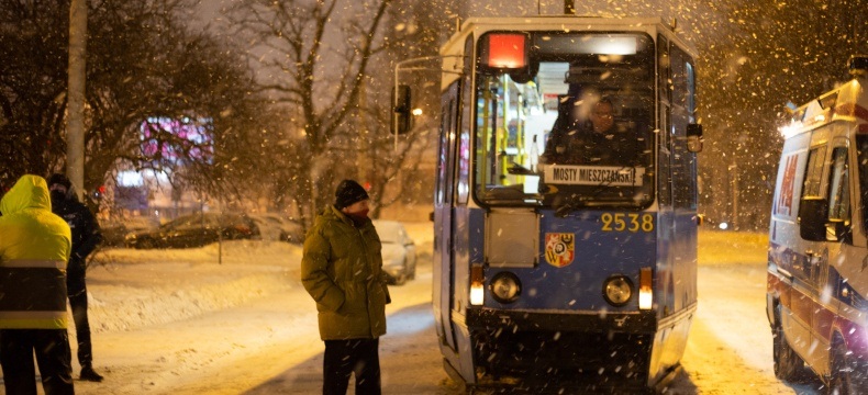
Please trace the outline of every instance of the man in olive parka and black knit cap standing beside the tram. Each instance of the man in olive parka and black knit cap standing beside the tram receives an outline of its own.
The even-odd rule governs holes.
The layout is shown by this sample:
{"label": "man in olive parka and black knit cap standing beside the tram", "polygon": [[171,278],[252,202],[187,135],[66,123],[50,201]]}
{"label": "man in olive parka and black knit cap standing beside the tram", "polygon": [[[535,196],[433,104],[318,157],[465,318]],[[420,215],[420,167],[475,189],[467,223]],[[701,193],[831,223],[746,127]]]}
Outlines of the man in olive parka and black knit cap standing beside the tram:
{"label": "man in olive parka and black knit cap standing beside the tram", "polygon": [[301,282],[316,302],[325,342],[323,394],[345,395],[356,375],[356,394],[379,395],[379,337],[386,335],[389,290],[380,238],[368,218],[368,193],[342,181],[335,203],[308,232]]}

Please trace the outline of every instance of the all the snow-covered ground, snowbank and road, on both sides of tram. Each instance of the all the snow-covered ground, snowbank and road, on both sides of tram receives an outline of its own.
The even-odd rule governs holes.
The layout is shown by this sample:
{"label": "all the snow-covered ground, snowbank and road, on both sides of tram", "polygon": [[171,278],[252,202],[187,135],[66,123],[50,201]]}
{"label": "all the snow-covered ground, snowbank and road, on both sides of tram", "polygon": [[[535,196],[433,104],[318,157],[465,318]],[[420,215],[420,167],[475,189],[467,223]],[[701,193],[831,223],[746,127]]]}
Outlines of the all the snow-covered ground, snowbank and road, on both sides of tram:
{"label": "all the snow-covered ground, snowbank and road, on both sides of tram", "polygon": [[[420,267],[416,280],[391,287],[383,392],[461,394],[443,371],[434,332],[432,226],[407,226]],[[765,236],[702,233],[700,244],[700,306],[669,393],[820,393],[808,374],[790,385],[771,370]],[[300,260],[300,246],[267,241],[100,252],[88,287],[94,365],[105,381],[77,381],[77,393],[319,393],[323,346]],[[75,357],[74,366],[77,376]]]}

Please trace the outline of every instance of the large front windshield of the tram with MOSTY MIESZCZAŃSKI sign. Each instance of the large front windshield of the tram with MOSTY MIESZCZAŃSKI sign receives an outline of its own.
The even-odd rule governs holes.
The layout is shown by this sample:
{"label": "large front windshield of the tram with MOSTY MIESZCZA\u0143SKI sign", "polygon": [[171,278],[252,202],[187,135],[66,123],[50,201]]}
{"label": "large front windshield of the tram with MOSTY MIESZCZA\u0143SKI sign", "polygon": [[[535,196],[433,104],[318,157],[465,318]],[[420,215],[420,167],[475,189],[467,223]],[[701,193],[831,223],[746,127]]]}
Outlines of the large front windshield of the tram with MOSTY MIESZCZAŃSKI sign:
{"label": "large front windshield of the tram with MOSTY MIESZCZA\u0143SKI sign", "polygon": [[[649,205],[652,38],[526,32],[510,43],[502,37],[510,34],[515,35],[487,33],[478,42],[477,200],[554,207]],[[492,65],[503,48],[519,48],[519,63],[508,65],[512,68]]]}

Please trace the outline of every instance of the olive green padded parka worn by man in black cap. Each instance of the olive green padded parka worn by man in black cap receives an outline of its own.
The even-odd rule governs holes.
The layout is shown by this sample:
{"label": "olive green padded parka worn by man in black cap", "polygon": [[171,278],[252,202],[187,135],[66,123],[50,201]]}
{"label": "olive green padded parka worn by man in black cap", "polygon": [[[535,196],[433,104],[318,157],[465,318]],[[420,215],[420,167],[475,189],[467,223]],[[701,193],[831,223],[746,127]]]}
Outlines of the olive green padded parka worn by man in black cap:
{"label": "olive green padded parka worn by man in black cap", "polygon": [[386,335],[381,249],[370,219],[357,228],[333,206],[316,216],[304,239],[301,282],[316,302],[323,340]]}

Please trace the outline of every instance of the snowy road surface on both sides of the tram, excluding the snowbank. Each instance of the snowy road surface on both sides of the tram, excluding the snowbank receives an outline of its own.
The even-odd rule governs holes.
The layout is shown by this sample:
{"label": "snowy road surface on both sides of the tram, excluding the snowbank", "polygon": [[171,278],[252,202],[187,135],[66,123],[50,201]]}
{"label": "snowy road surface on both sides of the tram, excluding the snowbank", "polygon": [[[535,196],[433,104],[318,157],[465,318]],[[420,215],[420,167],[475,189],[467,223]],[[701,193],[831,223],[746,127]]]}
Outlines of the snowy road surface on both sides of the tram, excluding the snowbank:
{"label": "snowy road surface on both sides of the tram, excluding the snowbank", "polygon": [[[461,394],[443,370],[430,305],[430,255],[421,258],[416,280],[390,289],[389,332],[380,339],[383,393]],[[283,264],[280,271],[267,267],[275,284],[286,283],[282,289],[265,284],[263,275],[255,276],[268,291],[263,291],[263,297],[186,319],[96,334],[96,364],[107,380],[99,384],[77,381],[77,393],[319,393],[323,345],[315,307],[299,283],[297,264]],[[226,269],[242,268],[202,266],[192,270],[201,278],[219,276],[216,272]],[[816,390],[820,383],[809,374],[799,385],[775,379],[763,262],[701,264],[699,280],[700,305],[683,358],[685,371],[669,393],[822,393]],[[240,283],[238,289],[249,286],[249,281]],[[94,287],[99,293],[99,286]],[[77,373],[77,363],[75,366]]]}

